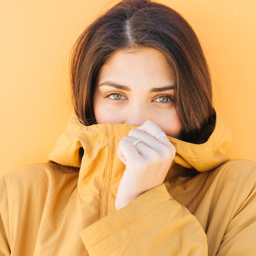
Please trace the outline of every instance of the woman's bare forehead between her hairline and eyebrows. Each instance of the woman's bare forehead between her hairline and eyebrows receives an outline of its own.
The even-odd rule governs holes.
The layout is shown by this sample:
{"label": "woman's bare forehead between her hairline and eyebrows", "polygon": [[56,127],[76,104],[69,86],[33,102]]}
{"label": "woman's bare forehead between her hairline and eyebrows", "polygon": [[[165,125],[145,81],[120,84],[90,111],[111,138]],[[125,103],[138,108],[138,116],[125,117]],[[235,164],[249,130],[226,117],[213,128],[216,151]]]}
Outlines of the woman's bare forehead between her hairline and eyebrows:
{"label": "woman's bare forehead between her hairline and eyebrows", "polygon": [[122,85],[172,85],[173,71],[162,52],[146,48],[137,52],[118,51],[101,66],[98,84],[113,81]]}

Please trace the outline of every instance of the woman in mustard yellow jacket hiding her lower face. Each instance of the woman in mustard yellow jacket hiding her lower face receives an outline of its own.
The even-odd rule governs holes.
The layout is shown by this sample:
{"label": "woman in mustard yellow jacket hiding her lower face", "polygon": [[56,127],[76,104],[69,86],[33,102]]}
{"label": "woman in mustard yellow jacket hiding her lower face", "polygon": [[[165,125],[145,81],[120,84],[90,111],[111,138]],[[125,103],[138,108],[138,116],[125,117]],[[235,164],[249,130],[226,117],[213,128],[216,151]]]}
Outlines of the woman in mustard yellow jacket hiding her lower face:
{"label": "woman in mustard yellow jacket hiding her lower face", "polygon": [[230,160],[193,29],[124,0],[71,56],[74,113],[0,179],[0,255],[255,255],[256,163]]}

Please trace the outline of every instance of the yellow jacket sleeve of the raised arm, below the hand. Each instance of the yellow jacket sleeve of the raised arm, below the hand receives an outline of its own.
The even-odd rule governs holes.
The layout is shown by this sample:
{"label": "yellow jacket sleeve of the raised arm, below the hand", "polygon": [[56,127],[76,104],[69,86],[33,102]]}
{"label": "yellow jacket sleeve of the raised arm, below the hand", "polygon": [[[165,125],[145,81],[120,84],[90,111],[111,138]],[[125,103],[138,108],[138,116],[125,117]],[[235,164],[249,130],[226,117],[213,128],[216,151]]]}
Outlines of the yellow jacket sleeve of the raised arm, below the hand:
{"label": "yellow jacket sleeve of the raised arm, below the hand", "polygon": [[90,256],[207,256],[198,220],[162,183],[83,229]]}

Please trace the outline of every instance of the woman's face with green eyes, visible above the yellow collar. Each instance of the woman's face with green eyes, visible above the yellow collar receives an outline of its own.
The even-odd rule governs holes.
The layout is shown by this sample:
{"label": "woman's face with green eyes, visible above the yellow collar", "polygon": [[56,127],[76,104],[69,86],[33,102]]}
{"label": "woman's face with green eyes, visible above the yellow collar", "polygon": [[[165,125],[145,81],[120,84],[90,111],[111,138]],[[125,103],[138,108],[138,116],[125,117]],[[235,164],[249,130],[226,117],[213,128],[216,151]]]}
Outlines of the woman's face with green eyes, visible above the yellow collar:
{"label": "woman's face with green eyes, visible above the yellow collar", "polygon": [[116,52],[101,66],[94,89],[97,124],[141,126],[148,119],[179,138],[182,130],[173,104],[173,71],[160,51]]}

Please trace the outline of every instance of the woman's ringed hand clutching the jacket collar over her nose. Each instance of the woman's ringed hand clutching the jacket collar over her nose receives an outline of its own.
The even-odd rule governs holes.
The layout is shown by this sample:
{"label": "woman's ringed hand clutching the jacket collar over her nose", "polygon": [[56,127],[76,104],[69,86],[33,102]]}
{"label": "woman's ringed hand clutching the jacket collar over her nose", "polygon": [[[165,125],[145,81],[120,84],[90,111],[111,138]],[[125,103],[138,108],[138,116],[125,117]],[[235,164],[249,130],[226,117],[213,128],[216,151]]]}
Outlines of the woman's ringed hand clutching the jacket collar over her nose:
{"label": "woman's ringed hand clutching the jacket collar over her nose", "polygon": [[[155,139],[159,132],[162,129],[154,121],[147,120],[119,141],[117,155],[126,169],[117,189],[117,210],[164,182],[176,150],[165,136]],[[134,146],[132,143],[136,139],[144,143]]]}

